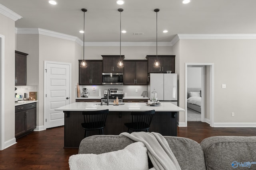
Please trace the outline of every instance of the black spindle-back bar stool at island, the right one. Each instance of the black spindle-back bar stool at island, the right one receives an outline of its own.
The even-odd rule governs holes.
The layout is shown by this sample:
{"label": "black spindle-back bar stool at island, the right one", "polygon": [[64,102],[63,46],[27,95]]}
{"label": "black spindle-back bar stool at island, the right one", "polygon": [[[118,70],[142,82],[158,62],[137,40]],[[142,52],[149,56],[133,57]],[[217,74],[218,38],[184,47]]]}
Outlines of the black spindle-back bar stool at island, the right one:
{"label": "black spindle-back bar stool at island, the right one", "polygon": [[152,121],[152,117],[155,114],[155,110],[150,111],[132,111],[132,122],[124,123],[124,125],[129,130],[139,132],[139,131],[147,131],[150,128],[150,123]]}

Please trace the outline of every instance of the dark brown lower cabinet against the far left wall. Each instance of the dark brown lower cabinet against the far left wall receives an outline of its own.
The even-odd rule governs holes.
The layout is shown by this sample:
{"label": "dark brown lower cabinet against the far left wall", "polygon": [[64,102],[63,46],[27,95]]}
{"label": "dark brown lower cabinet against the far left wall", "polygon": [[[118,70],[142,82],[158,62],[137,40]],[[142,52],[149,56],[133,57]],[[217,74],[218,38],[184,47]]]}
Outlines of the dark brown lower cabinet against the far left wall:
{"label": "dark brown lower cabinet against the far left wall", "polygon": [[16,139],[31,133],[36,128],[36,102],[15,106]]}

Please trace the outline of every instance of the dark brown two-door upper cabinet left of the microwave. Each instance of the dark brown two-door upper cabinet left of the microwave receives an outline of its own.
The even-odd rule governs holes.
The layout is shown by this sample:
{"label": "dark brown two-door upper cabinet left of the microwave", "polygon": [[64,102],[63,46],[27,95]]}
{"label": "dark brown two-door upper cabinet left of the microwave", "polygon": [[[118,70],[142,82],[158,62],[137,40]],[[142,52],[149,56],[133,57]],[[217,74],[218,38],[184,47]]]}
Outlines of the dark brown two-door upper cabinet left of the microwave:
{"label": "dark brown two-door upper cabinet left of the microwave", "polygon": [[81,68],[79,60],[79,85],[102,85],[102,61],[86,60],[87,68]]}

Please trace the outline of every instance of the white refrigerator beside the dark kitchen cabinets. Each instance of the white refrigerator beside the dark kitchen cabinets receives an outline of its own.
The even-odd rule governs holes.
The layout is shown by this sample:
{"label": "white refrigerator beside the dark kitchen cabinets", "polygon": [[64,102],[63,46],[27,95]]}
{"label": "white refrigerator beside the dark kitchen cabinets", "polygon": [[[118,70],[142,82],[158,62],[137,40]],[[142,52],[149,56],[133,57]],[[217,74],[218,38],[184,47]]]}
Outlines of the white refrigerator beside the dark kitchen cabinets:
{"label": "white refrigerator beside the dark kitchen cabinets", "polygon": [[148,97],[157,92],[157,99],[178,105],[178,83],[176,73],[150,73],[148,82]]}

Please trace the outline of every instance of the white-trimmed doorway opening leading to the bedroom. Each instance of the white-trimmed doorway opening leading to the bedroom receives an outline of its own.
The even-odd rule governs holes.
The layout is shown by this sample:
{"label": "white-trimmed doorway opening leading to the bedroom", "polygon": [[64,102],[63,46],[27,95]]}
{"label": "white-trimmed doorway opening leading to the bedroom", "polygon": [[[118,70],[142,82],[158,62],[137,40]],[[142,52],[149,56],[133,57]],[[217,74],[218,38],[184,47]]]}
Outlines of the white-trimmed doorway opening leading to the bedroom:
{"label": "white-trimmed doorway opening leading to the bedroom", "polygon": [[[201,74],[199,76],[201,80],[201,85],[196,85],[197,87],[191,88],[191,81],[193,78],[191,76],[191,71],[193,68],[200,70]],[[197,70],[197,72],[199,71]],[[195,80],[198,81],[198,80]],[[193,82],[195,84],[195,82]],[[193,84],[192,83],[192,84]],[[192,93],[191,93],[192,92]],[[190,98],[192,96],[196,96]],[[200,104],[198,100],[194,98],[200,98]],[[190,99],[189,99],[190,98]],[[189,103],[188,103],[189,102]],[[191,104],[192,103],[192,104]],[[200,106],[199,106],[200,105]],[[185,123],[186,127],[188,125],[188,111],[190,109],[195,110],[200,113],[200,120],[206,122],[213,127],[214,122],[214,64],[213,63],[185,63]]]}

